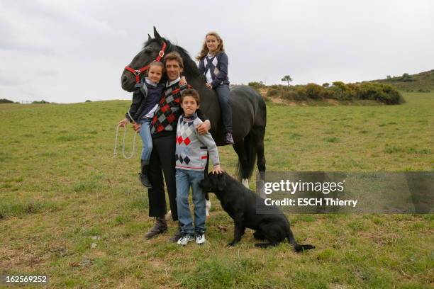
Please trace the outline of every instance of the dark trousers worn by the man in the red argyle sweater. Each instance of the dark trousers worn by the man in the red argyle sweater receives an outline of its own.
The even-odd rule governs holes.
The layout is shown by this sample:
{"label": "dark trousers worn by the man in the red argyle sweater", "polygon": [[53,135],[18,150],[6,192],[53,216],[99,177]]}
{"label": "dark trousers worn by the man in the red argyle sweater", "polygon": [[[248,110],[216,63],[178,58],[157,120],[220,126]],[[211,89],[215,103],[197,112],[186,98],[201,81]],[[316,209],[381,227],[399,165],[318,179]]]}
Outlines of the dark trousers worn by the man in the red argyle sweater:
{"label": "dark trousers worn by the man in the red argyle sweater", "polygon": [[175,180],[175,135],[165,135],[152,139],[153,147],[150,157],[149,180],[152,188],[148,188],[149,216],[163,217],[167,213],[165,186],[163,173],[165,175],[169,205],[172,212],[172,219],[178,220],[177,210],[177,183]]}

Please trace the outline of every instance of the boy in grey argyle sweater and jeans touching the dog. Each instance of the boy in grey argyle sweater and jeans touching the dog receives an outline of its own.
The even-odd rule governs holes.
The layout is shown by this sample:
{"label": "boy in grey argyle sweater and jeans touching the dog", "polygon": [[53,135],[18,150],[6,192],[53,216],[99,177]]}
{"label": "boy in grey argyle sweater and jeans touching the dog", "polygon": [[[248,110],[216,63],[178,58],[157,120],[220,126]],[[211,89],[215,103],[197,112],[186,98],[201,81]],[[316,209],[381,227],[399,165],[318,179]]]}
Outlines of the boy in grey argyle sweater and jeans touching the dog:
{"label": "boy in grey argyle sweater and jeans touching the dog", "polygon": [[[182,225],[182,237],[178,244],[187,245],[195,239],[196,243],[205,242],[205,194],[199,186],[204,179],[207,152],[213,160],[213,174],[222,173],[218,150],[211,134],[207,132],[200,135],[196,126],[202,121],[197,117],[200,98],[195,89],[186,89],[182,92],[180,103],[184,114],[179,116],[177,125],[177,144],[175,159],[177,183],[178,218]],[[194,227],[189,208],[189,191],[193,191]]]}

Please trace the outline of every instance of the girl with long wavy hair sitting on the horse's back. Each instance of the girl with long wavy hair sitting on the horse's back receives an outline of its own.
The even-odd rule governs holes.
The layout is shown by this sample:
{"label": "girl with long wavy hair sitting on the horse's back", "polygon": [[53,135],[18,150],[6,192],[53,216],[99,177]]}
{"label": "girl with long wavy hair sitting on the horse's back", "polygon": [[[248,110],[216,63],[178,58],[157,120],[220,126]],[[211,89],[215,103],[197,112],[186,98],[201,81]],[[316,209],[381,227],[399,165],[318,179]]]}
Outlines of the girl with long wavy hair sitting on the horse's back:
{"label": "girl with long wavy hair sitting on the horse's back", "polygon": [[228,55],[223,49],[223,40],[218,33],[211,31],[206,34],[204,45],[196,60],[199,60],[199,72],[206,78],[206,86],[208,89],[215,89],[218,95],[225,130],[225,142],[233,144]]}

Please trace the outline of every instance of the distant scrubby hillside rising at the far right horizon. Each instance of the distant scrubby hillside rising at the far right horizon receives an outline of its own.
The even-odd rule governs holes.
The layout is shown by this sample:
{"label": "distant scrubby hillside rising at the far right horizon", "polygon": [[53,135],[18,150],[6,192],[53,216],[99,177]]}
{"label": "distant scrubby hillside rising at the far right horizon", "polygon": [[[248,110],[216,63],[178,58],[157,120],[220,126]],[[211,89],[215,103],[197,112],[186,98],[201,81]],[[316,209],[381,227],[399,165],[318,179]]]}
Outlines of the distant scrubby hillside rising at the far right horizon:
{"label": "distant scrubby hillside rising at the far right horizon", "polygon": [[430,92],[434,90],[434,69],[418,74],[403,74],[399,77],[388,77],[364,82],[381,82],[391,84],[401,91]]}

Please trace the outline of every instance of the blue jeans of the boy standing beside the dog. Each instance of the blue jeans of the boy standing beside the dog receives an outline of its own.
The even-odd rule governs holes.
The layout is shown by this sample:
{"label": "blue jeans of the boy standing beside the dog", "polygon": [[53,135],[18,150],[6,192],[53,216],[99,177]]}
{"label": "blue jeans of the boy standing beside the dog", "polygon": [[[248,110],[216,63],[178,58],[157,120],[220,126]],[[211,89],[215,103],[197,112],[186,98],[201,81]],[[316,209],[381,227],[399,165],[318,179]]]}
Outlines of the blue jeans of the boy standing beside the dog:
{"label": "blue jeans of the boy standing beside the dog", "polygon": [[[182,225],[182,233],[194,234],[194,232],[205,232],[205,193],[199,186],[200,181],[204,179],[204,171],[177,169],[176,179],[178,219]],[[194,227],[189,206],[190,187],[193,190]]]}

